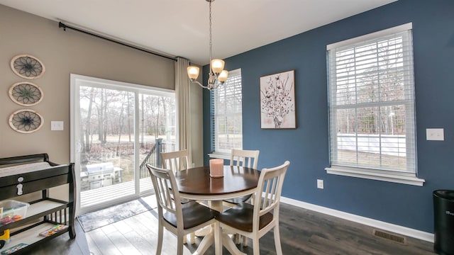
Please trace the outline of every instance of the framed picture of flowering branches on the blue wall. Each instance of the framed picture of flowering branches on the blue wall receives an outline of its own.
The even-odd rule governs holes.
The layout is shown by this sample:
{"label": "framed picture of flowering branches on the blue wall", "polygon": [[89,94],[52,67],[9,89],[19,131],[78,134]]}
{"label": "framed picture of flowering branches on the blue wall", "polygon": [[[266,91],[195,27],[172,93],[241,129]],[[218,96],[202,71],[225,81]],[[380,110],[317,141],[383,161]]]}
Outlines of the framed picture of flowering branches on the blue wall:
{"label": "framed picture of flowering branches on the blue wall", "polygon": [[260,77],[260,128],[297,128],[294,70]]}

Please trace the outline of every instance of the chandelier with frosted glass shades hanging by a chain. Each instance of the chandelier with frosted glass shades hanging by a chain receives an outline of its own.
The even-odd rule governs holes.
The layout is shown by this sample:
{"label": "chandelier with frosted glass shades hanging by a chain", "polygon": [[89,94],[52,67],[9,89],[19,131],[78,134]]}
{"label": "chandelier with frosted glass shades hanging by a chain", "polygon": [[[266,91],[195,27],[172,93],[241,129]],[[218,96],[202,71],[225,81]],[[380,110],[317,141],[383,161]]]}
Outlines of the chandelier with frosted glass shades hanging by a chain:
{"label": "chandelier with frosted glass shades hanging by a chain", "polygon": [[228,72],[224,70],[224,61],[223,60],[211,60],[211,3],[214,0],[206,0],[209,2],[209,35],[210,35],[210,70],[209,70],[209,77],[208,77],[208,85],[204,86],[199,81],[196,81],[197,77],[199,77],[199,67],[187,67],[187,75],[192,82],[199,84],[202,88],[213,90],[216,89],[218,86],[224,84],[228,77]]}

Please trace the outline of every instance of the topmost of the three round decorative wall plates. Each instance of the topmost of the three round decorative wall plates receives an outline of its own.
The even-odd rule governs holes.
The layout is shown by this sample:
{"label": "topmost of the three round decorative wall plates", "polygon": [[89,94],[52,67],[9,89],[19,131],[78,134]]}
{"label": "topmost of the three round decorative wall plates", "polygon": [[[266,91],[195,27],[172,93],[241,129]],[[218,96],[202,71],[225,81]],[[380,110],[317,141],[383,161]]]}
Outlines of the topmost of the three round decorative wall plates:
{"label": "topmost of the three round decorative wall plates", "polygon": [[45,72],[43,62],[32,55],[17,55],[11,60],[11,69],[24,79],[37,79]]}

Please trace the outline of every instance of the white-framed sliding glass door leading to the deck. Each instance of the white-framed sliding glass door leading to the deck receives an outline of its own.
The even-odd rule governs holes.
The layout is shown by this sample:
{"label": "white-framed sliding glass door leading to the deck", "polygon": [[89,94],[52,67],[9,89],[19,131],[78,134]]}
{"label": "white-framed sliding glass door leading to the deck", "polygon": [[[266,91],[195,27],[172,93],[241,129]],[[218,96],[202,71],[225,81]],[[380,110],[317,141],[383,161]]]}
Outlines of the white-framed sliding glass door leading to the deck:
{"label": "white-framed sliding glass door leading to the deck", "polygon": [[145,164],[175,147],[173,91],[72,74],[71,92],[77,213],[150,193]]}

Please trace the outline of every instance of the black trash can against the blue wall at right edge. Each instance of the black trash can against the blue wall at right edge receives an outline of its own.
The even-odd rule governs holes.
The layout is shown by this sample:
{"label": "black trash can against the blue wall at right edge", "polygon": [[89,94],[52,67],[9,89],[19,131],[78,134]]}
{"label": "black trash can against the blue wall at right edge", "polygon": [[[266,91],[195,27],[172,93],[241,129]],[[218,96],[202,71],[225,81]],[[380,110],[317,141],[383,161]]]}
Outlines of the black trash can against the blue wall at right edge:
{"label": "black trash can against the blue wall at right edge", "polygon": [[454,255],[454,191],[433,191],[433,220],[434,251]]}

